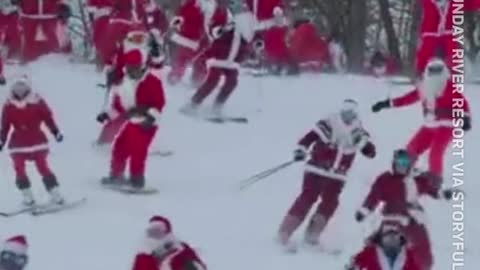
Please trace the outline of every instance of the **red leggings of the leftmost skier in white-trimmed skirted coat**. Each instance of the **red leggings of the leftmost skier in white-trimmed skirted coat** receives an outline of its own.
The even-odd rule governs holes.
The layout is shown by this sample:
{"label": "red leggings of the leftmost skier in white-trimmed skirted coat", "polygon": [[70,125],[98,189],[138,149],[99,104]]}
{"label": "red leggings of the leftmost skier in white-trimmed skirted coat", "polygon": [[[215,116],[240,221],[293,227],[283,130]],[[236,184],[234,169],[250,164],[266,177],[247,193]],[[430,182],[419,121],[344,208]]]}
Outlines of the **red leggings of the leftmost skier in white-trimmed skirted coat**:
{"label": "red leggings of the leftmost skier in white-trimmed skirted coat", "polygon": [[28,181],[25,165],[27,161],[33,161],[37,167],[38,173],[46,178],[53,175],[47,161],[48,151],[36,151],[30,153],[13,153],[11,158],[17,181]]}

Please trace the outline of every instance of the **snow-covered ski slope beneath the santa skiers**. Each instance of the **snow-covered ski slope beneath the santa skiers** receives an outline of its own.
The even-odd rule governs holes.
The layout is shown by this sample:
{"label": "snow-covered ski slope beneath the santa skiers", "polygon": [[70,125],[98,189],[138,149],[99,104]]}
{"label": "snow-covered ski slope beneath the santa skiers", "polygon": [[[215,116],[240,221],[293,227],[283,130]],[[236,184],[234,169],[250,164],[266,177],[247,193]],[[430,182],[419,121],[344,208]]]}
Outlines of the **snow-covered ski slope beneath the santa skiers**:
{"label": "snow-covered ski slope beneath the santa skiers", "polygon": [[[25,69],[25,68],[22,68]],[[7,67],[7,76],[19,68]],[[387,86],[380,80],[356,76],[303,75],[294,79],[249,78],[240,80],[232,96],[232,114],[246,114],[249,125],[214,125],[179,115],[178,108],[192,91],[168,88],[168,106],[155,148],[174,150],[171,158],[152,157],[148,183],[161,193],[152,197],[128,197],[99,188],[98,179],[108,171],[108,157],[91,149],[99,126],[95,115],[102,106],[101,81],[93,67],[72,66],[59,57],[48,57],[28,68],[34,84],[54,108],[65,133],[54,144],[51,164],[69,198],[87,196],[82,208],[44,217],[21,216],[0,220],[0,238],[26,234],[31,242],[29,269],[104,270],[129,269],[142,230],[153,214],[171,218],[177,234],[197,247],[212,270],[342,269],[360,245],[364,229],[353,213],[368,191],[372,178],[389,166],[391,153],[404,145],[421,122],[414,106],[373,115],[377,99],[405,91],[405,86]],[[2,91],[6,91],[2,89]],[[469,87],[474,115],[480,115],[480,88]],[[346,97],[357,99],[365,125],[379,147],[373,160],[359,158],[349,186],[342,195],[337,216],[326,231],[325,243],[343,248],[332,257],[313,252],[284,255],[273,239],[285,211],[301,185],[302,166],[297,165],[259,183],[245,192],[238,182],[269,166],[291,158],[296,141],[312,124],[336,110]],[[480,264],[480,205],[476,193],[480,175],[475,166],[480,153],[480,122],[467,136],[466,210],[467,266]],[[452,160],[449,159],[447,168]],[[31,170],[33,173],[33,170]],[[33,176],[35,175],[35,176]],[[45,197],[36,174],[36,193]],[[0,207],[15,207],[20,199],[6,154],[0,156]],[[447,179],[448,182],[448,179]],[[428,201],[437,264],[451,269],[451,207]],[[368,230],[368,226],[366,228]],[[301,239],[299,234],[298,238]]]}

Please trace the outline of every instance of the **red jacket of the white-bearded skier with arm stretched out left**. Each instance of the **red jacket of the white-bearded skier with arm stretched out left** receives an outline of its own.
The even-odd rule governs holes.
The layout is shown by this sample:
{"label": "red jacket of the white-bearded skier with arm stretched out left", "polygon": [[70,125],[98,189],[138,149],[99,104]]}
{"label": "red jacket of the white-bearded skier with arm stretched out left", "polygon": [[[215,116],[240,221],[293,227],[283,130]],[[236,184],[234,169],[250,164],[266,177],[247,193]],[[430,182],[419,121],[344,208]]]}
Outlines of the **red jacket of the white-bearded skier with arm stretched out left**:
{"label": "red jacket of the white-bearded skier with arm stretched out left", "polygon": [[[445,89],[429,102],[418,87],[403,96],[390,101],[392,107],[403,107],[421,101],[424,115],[424,125],[427,127],[453,127],[454,110],[463,110],[465,116],[470,115],[468,101],[462,93],[455,91],[451,81]],[[457,115],[455,113],[455,115]],[[456,116],[455,118],[458,118]],[[455,124],[457,126],[457,124]]]}

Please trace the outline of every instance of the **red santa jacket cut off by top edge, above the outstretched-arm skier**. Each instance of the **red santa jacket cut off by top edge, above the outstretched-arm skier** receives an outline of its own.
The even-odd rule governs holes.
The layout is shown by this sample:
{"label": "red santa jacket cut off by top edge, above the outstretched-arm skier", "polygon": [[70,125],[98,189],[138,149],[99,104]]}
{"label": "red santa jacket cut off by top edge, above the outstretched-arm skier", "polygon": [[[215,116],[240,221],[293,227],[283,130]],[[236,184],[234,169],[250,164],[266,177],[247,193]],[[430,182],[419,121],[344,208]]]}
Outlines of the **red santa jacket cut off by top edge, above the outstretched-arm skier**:
{"label": "red santa jacket cut off by top edge, above the outstretched-arm skier", "polygon": [[436,0],[421,0],[423,19],[420,25],[422,37],[451,35],[453,28],[453,0],[442,6]]}

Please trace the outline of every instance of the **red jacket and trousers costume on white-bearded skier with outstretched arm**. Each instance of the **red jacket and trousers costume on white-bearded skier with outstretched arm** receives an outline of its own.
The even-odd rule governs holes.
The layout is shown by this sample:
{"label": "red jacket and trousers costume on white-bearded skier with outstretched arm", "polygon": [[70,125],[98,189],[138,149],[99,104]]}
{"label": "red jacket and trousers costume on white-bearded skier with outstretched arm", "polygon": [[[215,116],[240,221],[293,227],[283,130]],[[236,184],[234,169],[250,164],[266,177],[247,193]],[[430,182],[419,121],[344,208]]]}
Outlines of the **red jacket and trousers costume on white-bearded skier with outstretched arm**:
{"label": "red jacket and trousers costume on white-bearded skier with outstretched arm", "polygon": [[[424,76],[417,88],[390,100],[390,106],[395,108],[421,102],[424,124],[410,139],[407,151],[417,158],[430,150],[429,169],[438,177],[443,176],[443,158],[453,138],[453,110],[463,110],[465,117],[470,116],[468,101],[454,89],[449,75],[445,76],[442,84]],[[455,118],[459,118],[458,115]]]}

